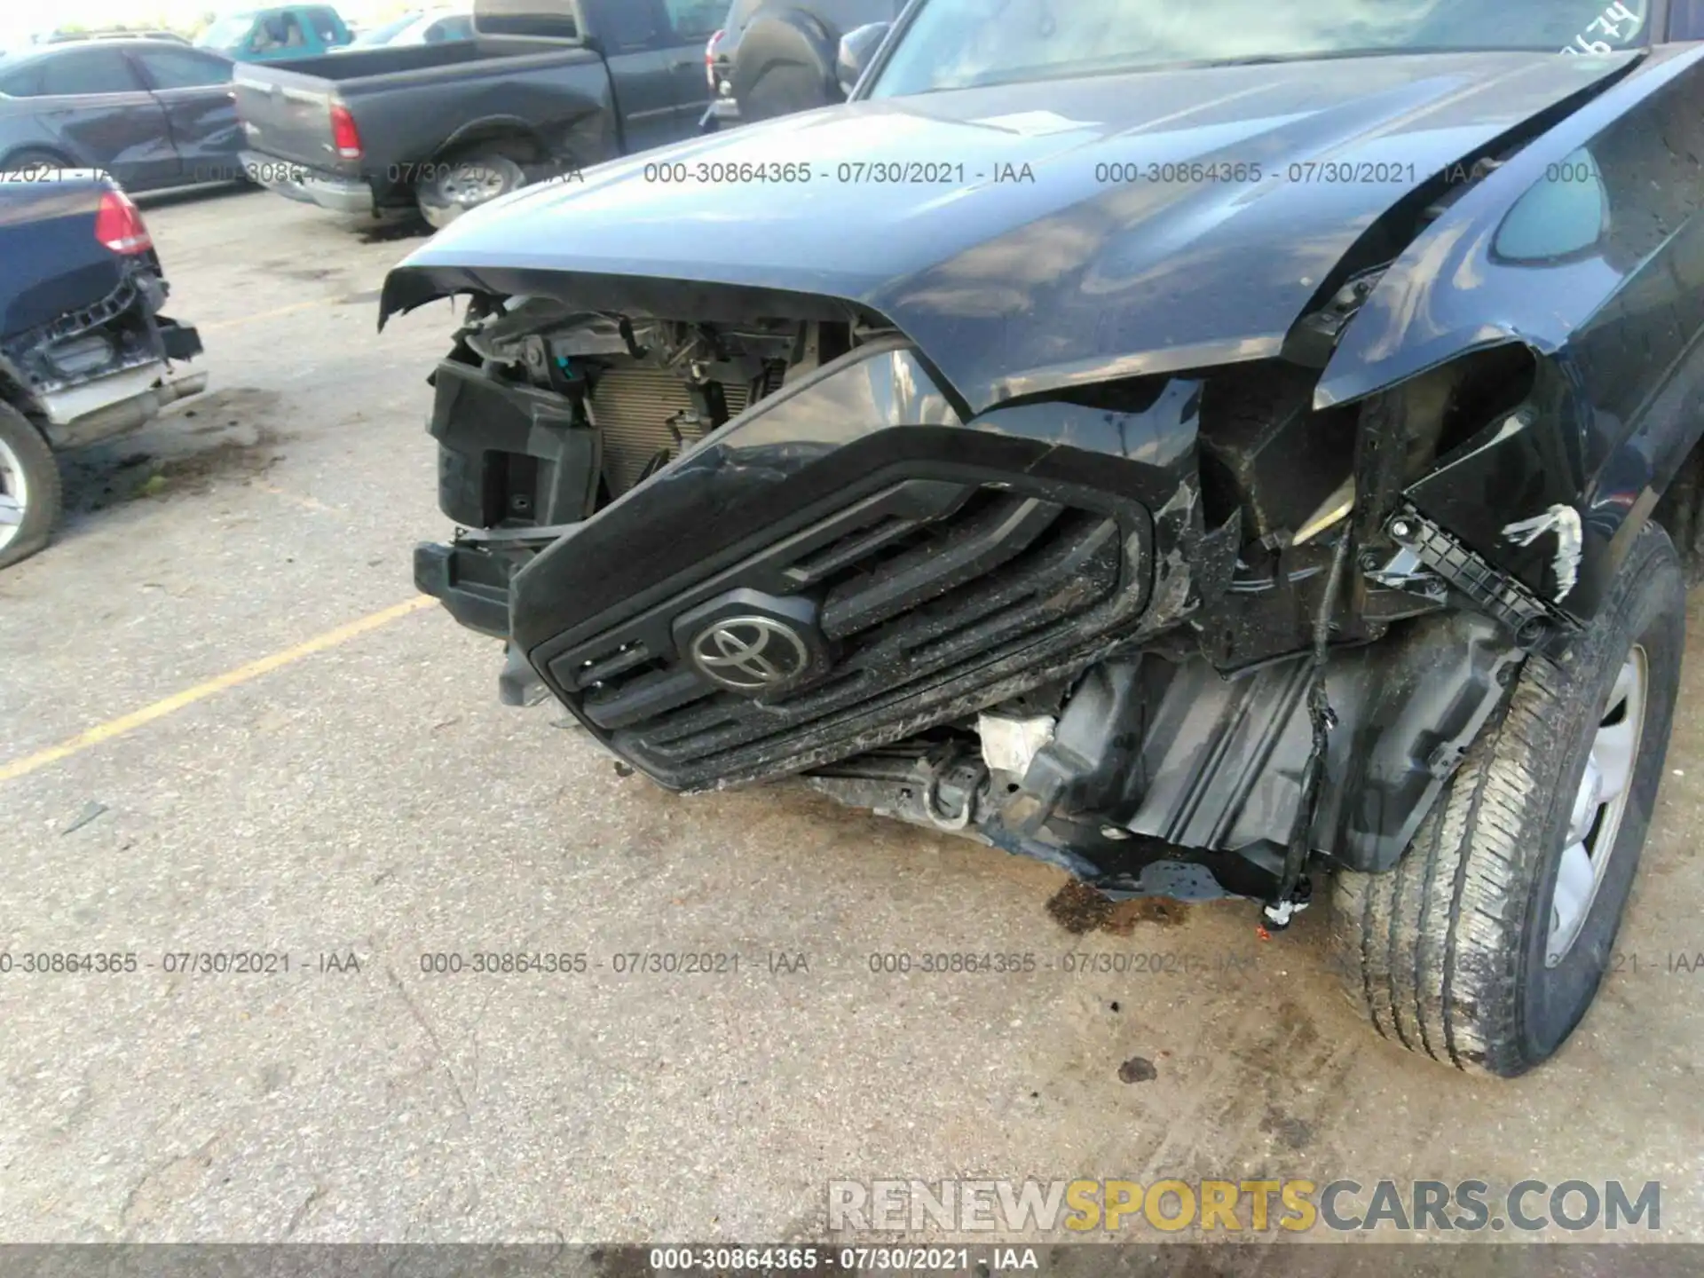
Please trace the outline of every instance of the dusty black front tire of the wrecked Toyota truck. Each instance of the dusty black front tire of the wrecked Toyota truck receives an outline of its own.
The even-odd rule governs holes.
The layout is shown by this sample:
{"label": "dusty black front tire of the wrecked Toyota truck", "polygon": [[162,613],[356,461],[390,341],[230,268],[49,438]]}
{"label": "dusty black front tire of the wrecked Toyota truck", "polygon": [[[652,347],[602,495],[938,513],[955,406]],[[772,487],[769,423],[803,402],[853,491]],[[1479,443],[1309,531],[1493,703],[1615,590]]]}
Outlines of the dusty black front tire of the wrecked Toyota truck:
{"label": "dusty black front tire of the wrecked Toyota truck", "polygon": [[[1510,1079],[1549,1060],[1574,1031],[1609,968],[1632,889],[1684,648],[1680,562],[1668,535],[1648,525],[1598,620],[1559,661],[1527,658],[1503,714],[1469,750],[1402,861],[1385,874],[1338,872],[1334,966],[1382,1036],[1467,1074]],[[1627,671],[1639,653],[1634,729],[1624,688],[1634,687]],[[1597,760],[1614,760],[1621,741],[1636,753],[1615,823],[1614,804],[1597,808],[1597,789],[1588,801],[1581,782],[1588,762],[1593,779],[1605,775]],[[1576,820],[1597,825],[1574,838]],[[1557,895],[1564,859],[1578,867],[1581,855],[1595,889]],[[1581,922],[1564,942],[1569,929],[1552,937],[1552,920],[1569,900],[1586,903],[1566,912]]]}

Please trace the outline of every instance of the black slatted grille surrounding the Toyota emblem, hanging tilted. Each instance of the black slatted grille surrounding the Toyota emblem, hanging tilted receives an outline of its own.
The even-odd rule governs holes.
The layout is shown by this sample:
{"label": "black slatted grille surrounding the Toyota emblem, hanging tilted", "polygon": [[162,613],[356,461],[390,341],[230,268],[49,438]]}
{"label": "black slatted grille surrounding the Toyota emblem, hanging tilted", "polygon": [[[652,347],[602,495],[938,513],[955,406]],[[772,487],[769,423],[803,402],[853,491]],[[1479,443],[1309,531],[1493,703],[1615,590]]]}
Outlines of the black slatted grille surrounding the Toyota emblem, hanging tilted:
{"label": "black slatted grille surrounding the Toyota emblem, hanging tilted", "polygon": [[[1131,578],[1145,564],[1130,554],[1145,528],[1140,508],[913,479],[562,653],[549,671],[617,750],[666,784],[779,775],[806,753],[845,757],[869,748],[872,733],[929,726],[918,716],[951,709],[966,680],[993,688],[1080,648],[1094,622],[1140,602]],[[702,678],[675,649],[671,622],[738,588],[816,600],[833,646],[828,673],[770,700]]]}

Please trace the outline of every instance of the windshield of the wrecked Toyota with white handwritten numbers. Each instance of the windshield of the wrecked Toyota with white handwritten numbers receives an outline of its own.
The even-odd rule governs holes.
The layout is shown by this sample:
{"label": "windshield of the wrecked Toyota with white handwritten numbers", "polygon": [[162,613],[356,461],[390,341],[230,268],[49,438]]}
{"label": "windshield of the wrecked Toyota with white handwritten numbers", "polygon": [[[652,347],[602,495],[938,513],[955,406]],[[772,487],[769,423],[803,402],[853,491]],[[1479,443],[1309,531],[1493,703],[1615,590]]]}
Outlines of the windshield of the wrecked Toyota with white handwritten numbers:
{"label": "windshield of the wrecked Toyota with white handwritten numbers", "polygon": [[1097,72],[1646,44],[1653,0],[924,0],[871,97]]}

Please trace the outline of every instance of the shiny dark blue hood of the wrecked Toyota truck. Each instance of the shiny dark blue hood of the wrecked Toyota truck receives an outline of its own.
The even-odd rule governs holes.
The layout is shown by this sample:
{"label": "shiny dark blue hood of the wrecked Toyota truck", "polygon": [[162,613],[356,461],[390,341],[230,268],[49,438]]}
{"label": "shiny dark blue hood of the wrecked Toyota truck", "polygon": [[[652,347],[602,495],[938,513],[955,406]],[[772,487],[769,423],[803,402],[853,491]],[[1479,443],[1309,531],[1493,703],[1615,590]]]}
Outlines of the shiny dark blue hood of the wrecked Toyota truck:
{"label": "shiny dark blue hood of the wrecked Toyota truck", "polygon": [[463,290],[629,314],[668,296],[659,281],[832,298],[905,332],[973,411],[1268,358],[1380,215],[1440,174],[1467,181],[1462,157],[1639,56],[1392,55],[852,102],[474,210],[390,273],[380,324]]}

